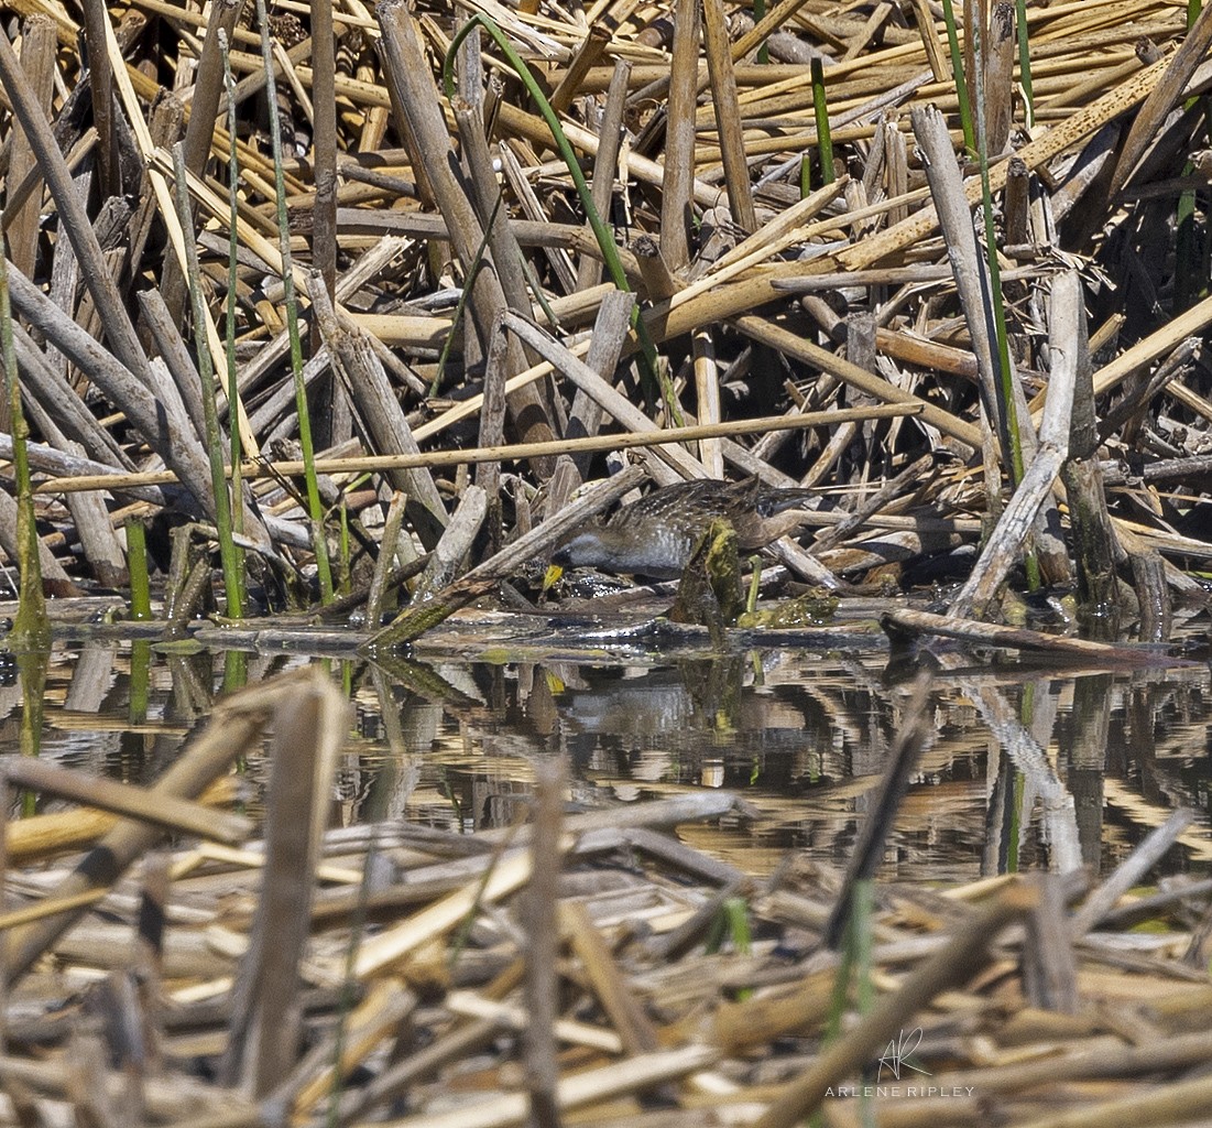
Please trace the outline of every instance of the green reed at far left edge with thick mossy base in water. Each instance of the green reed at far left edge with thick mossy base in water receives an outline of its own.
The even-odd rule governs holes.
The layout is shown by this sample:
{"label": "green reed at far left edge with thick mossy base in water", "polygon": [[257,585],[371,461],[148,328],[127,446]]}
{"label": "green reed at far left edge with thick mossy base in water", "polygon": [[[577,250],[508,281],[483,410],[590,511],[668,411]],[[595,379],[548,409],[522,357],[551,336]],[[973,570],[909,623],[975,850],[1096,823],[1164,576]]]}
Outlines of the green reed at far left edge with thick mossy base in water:
{"label": "green reed at far left edge with thick mossy base in water", "polygon": [[21,377],[17,375],[17,353],[12,341],[7,253],[7,245],[0,235],[0,357],[4,359],[8,415],[12,421],[12,466],[17,479],[17,568],[21,570],[12,633],[19,648],[34,649],[47,642],[50,628],[46,621],[46,597],[42,593],[42,568],[38,557],[40,546],[34,515],[34,490],[29,479],[29,454],[25,449],[29,425],[21,404]]}

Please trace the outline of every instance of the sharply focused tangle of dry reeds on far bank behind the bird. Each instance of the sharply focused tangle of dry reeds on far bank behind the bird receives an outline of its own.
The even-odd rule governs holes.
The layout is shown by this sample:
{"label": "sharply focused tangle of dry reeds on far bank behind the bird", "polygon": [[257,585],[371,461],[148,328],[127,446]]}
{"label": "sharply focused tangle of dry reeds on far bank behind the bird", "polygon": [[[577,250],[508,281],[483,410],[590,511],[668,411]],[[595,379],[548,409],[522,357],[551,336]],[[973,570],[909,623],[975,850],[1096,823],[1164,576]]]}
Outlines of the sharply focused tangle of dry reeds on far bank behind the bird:
{"label": "sharply focused tangle of dry reeds on far bank behind the bird", "polygon": [[147,614],[144,545],[178,623],[377,568],[378,615],[439,597],[404,642],[548,598],[528,562],[630,452],[819,489],[844,529],[776,553],[810,585],[983,546],[951,617],[1076,587],[1161,640],[1201,598],[1212,17],[15,7],[0,456],[39,537],[0,532],[51,593]]}

